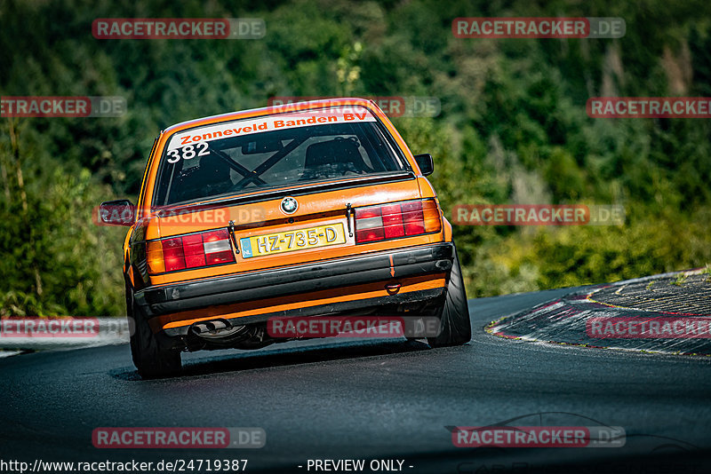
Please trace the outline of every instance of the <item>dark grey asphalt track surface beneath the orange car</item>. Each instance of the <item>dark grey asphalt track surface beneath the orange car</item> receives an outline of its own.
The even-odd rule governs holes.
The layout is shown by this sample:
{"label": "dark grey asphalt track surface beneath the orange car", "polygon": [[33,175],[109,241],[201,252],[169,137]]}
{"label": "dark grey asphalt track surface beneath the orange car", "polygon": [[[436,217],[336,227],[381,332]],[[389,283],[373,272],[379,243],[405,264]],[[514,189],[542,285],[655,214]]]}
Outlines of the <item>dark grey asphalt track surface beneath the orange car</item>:
{"label": "dark grey asphalt track surface beneath the orange car", "polygon": [[[473,339],[455,348],[324,339],[196,352],[183,356],[180,376],[149,381],[128,345],[0,359],[0,460],[247,459],[247,472],[346,472],[308,469],[316,459],[367,460],[363,472],[373,459],[403,461],[408,473],[711,472],[709,358],[538,344],[483,329],[572,289],[470,300]],[[617,426],[626,436],[620,447],[452,443],[452,426],[503,424]],[[267,442],[99,449],[98,427],[260,427]]]}

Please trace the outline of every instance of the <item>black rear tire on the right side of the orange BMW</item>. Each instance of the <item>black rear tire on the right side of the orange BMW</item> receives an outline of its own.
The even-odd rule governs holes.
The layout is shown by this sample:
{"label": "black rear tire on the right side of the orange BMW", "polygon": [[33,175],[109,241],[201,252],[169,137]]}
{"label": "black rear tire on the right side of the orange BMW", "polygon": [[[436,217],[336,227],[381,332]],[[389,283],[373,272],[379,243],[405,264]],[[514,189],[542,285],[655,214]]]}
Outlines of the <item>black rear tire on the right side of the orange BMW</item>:
{"label": "black rear tire on the right side of the orange BMW", "polygon": [[444,299],[440,319],[440,333],[436,337],[427,337],[431,347],[447,347],[467,344],[472,338],[472,326],[469,320],[469,306],[461,267],[454,249],[454,261],[451,265],[450,282]]}

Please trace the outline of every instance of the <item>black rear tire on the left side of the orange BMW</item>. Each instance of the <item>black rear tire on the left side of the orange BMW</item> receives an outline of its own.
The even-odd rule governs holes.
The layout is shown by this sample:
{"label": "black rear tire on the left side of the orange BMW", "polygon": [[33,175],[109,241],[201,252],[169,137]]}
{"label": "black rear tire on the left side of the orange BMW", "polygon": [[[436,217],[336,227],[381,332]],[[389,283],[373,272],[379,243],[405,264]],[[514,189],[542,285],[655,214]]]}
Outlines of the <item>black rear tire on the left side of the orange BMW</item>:
{"label": "black rear tire on the left side of the orange BMW", "polygon": [[148,326],[148,320],[140,306],[133,301],[132,294],[126,296],[129,317],[133,318],[131,335],[131,355],[133,365],[143,378],[173,375],[180,371],[180,351],[172,349],[167,341],[161,340]]}

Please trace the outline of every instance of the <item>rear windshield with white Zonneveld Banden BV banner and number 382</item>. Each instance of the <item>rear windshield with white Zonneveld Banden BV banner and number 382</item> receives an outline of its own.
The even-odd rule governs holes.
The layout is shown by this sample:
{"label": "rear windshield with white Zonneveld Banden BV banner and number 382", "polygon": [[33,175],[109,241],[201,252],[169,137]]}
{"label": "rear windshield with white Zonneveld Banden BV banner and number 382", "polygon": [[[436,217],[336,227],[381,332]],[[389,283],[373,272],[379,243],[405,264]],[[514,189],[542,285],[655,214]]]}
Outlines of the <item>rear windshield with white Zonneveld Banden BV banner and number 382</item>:
{"label": "rear windshield with white Zonneveld Banden BV banner and number 382", "polygon": [[365,107],[268,115],[175,133],[154,205],[402,170],[402,153]]}

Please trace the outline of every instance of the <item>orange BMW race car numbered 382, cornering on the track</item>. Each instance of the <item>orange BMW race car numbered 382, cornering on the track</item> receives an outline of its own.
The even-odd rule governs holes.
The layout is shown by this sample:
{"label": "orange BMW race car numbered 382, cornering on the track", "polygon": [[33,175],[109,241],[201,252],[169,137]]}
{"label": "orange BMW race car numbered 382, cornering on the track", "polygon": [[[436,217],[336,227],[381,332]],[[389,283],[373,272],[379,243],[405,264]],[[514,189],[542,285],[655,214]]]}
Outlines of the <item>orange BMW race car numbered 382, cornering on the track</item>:
{"label": "orange BMW race car numbered 382, cornering on the track", "polygon": [[124,278],[133,362],[180,369],[180,352],[255,349],[275,317],[415,314],[433,346],[471,338],[467,296],[432,185],[370,100],[330,99],[183,122],[161,132],[130,225]]}

